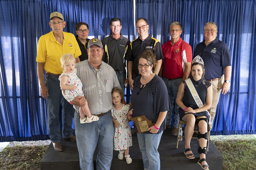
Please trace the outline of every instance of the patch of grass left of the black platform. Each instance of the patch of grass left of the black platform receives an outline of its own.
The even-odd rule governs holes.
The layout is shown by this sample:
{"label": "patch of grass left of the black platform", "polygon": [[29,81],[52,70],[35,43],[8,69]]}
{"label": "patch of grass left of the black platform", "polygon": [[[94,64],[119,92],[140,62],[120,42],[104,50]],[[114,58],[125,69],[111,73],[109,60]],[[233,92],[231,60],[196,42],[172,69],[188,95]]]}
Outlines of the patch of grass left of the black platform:
{"label": "patch of grass left of the black platform", "polygon": [[40,170],[40,161],[43,158],[47,145],[33,145],[6,147],[0,152],[1,170]]}

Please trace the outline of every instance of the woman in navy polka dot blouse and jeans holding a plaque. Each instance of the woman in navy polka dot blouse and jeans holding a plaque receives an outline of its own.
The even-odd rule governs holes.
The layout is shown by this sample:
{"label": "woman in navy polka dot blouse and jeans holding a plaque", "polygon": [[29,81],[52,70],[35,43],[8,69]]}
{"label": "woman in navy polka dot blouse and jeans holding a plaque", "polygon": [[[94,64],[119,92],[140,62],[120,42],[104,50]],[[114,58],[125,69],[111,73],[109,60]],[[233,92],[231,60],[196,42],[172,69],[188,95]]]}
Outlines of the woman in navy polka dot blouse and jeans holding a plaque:
{"label": "woman in navy polka dot blouse and jeans holding a plaque", "polygon": [[[156,55],[150,50],[139,57],[140,75],[134,79],[131,95],[132,117],[145,115],[154,126],[147,132],[138,133],[138,142],[142,153],[144,169],[160,170],[160,158],[157,151],[163,130],[165,130],[166,113],[171,108],[170,99],[164,81],[153,73]],[[130,117],[128,117],[130,119]]]}

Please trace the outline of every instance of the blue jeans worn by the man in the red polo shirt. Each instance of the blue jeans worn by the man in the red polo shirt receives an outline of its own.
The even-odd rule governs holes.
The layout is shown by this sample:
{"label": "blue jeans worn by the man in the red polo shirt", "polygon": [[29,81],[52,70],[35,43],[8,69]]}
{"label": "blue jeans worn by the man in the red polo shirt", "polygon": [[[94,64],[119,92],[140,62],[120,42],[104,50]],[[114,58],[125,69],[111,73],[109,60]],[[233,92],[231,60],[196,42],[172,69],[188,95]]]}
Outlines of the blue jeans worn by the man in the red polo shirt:
{"label": "blue jeans worn by the man in the red polo shirt", "polygon": [[172,108],[168,110],[166,114],[166,125],[170,125],[172,122],[172,110],[173,110],[173,102],[175,102],[175,110],[174,110],[174,123],[173,126],[178,128],[180,115],[179,115],[179,106],[176,104],[176,97],[179,89],[180,82],[182,78],[175,79],[175,80],[167,80],[166,78],[162,77],[164,83],[167,87],[168,95],[170,98]]}

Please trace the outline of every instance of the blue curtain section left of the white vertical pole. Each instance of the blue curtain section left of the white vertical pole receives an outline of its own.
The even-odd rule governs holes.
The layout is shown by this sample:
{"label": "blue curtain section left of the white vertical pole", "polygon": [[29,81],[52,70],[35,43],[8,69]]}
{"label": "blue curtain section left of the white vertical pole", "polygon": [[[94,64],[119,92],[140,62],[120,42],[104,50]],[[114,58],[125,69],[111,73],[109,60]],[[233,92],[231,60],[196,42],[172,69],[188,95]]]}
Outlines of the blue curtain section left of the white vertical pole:
{"label": "blue curtain section left of the white vertical pole", "polygon": [[[109,35],[110,19],[122,21],[121,33],[134,39],[132,0],[3,0],[0,2],[0,141],[49,139],[46,102],[36,71],[37,42],[51,31],[50,13],[59,11],[65,32],[76,35],[78,22],[89,37]],[[60,118],[61,120],[61,118]]]}

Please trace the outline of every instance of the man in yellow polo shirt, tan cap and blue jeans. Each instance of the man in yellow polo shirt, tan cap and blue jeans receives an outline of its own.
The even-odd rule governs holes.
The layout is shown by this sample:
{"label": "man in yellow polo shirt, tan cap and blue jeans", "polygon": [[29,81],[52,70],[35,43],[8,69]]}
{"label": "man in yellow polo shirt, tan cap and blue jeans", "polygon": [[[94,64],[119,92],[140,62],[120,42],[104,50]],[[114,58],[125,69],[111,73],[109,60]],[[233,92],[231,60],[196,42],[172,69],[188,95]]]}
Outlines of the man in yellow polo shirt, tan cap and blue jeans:
{"label": "man in yellow polo shirt, tan cap and blue jeans", "polygon": [[[41,36],[37,46],[37,75],[41,86],[41,96],[46,99],[48,113],[48,130],[53,147],[56,151],[63,151],[60,145],[59,109],[62,105],[62,137],[76,142],[72,134],[72,118],[74,109],[61,94],[59,76],[63,72],[60,57],[65,53],[72,53],[79,62],[81,55],[76,38],[72,33],[63,32],[66,26],[63,15],[52,12],[50,15],[52,31]],[[44,70],[46,76],[44,79]]]}

